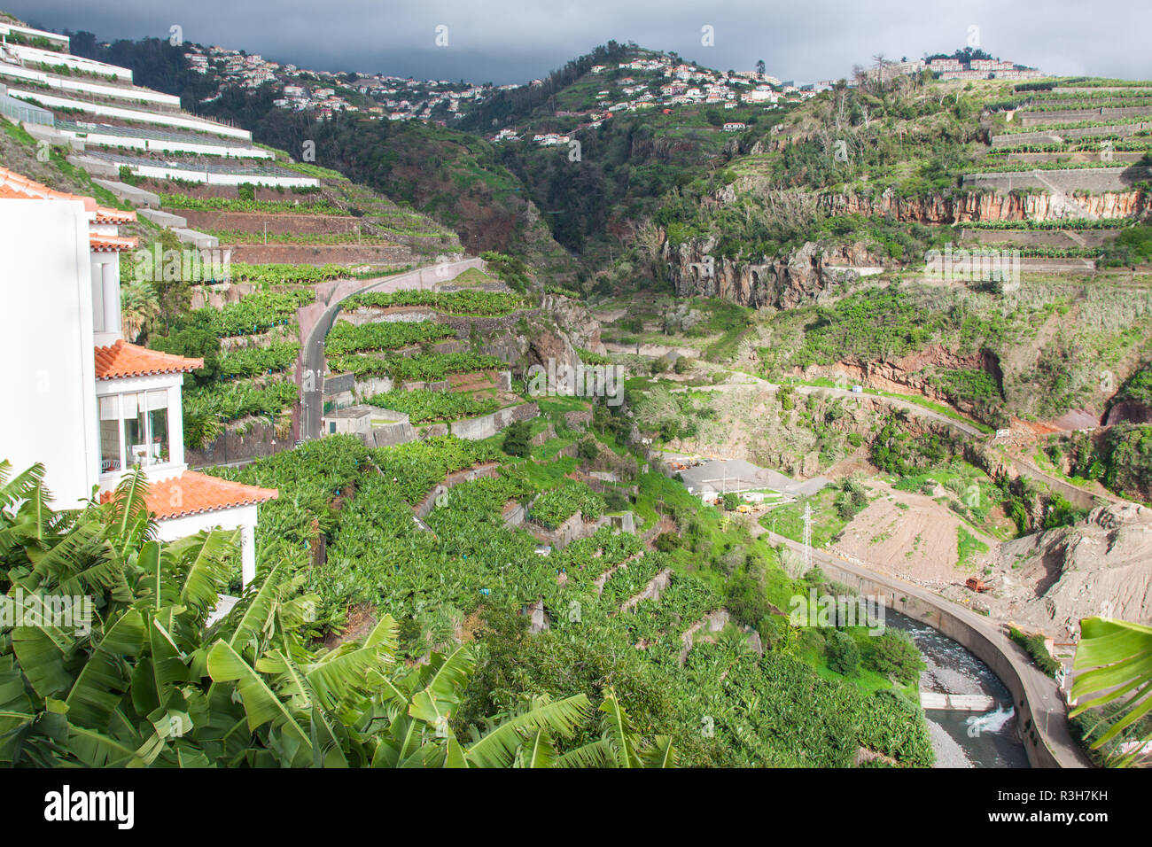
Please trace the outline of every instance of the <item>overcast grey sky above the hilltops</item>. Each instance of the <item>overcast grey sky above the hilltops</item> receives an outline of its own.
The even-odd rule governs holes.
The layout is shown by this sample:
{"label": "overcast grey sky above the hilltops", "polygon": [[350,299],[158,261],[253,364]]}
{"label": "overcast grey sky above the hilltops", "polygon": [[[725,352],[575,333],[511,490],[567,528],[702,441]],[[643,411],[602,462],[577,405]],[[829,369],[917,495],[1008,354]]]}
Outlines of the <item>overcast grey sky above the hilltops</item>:
{"label": "overcast grey sky above the hilltops", "polygon": [[[915,59],[976,43],[1053,74],[1152,77],[1150,0],[8,0],[47,29],[101,40],[161,36],[260,53],[314,70],[524,82],[608,39],[674,50],[727,70],[764,59],[782,80],[847,76],[876,53]],[[447,28],[447,46],[435,44]],[[713,46],[702,44],[711,27]]]}

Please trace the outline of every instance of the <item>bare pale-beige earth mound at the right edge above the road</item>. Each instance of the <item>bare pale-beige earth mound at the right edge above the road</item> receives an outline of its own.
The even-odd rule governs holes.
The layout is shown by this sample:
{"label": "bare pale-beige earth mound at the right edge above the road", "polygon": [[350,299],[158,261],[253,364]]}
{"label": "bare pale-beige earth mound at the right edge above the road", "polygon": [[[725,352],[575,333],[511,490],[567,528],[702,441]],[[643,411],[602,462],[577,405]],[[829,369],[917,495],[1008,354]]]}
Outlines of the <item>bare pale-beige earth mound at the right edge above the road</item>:
{"label": "bare pale-beige earth mound at the right edge above the road", "polygon": [[1056,641],[1079,632],[1082,618],[1152,622],[1152,509],[1100,506],[1075,527],[1000,545],[995,611],[1039,627]]}

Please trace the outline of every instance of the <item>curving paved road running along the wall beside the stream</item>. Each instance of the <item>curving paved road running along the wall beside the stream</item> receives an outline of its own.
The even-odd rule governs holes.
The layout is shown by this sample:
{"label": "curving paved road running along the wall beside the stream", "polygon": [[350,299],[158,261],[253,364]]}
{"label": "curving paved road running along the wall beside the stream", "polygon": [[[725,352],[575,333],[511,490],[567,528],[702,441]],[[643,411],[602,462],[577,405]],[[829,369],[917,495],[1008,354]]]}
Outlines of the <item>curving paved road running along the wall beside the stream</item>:
{"label": "curving paved road running along the wall beside the stream", "polygon": [[[764,530],[761,535],[768,536],[775,544],[785,544],[797,553],[803,554],[803,545],[798,542],[794,542],[770,530]],[[825,550],[813,547],[812,558],[817,562],[834,565],[842,570],[873,580],[904,595],[916,597],[923,603],[947,611],[948,614],[955,615],[979,632],[1011,663],[1013,668],[1024,685],[1024,696],[1031,705],[1036,729],[1044,736],[1048,749],[1055,755],[1060,765],[1062,767],[1092,767],[1092,763],[1076,742],[1073,741],[1071,734],[1068,731],[1068,712],[1055,680],[1045,675],[1032,664],[1023,650],[1009,641],[1000,632],[1000,628],[993,625],[987,618],[946,600],[919,585],[914,585],[894,576],[886,576],[876,570],[859,567]]]}

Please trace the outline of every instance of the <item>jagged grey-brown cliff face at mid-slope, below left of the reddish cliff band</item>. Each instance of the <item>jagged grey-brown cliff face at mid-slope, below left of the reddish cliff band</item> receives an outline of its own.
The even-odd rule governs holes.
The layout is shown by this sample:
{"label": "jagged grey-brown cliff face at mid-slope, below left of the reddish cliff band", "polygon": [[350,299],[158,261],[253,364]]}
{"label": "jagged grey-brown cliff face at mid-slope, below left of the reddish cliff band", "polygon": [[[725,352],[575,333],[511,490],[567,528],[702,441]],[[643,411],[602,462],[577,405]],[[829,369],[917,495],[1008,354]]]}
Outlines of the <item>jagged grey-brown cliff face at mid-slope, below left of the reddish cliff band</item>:
{"label": "jagged grey-brown cliff face at mid-slope, below left of the reddish cliff band", "polygon": [[713,239],[672,245],[664,257],[677,297],[722,297],[756,309],[793,309],[817,303],[859,279],[858,267],[879,267],[882,259],[862,243],[823,248],[809,242],[787,259],[746,264],[714,258]]}

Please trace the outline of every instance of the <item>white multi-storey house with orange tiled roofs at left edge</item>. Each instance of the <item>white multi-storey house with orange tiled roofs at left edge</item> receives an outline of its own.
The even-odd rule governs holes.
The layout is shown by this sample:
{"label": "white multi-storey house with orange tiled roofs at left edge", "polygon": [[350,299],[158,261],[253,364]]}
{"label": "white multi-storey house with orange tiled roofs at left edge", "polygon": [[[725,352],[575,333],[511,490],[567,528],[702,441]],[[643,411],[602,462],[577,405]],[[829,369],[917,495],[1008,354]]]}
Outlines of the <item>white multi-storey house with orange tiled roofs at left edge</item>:
{"label": "white multi-storey house with orange tiled roofs at left edge", "polygon": [[[204,364],[128,343],[120,323],[119,235],[135,212],[98,206],[0,167],[7,278],[0,384],[0,457],[20,472],[36,462],[55,504],[107,500],[134,468],[165,540],[219,527],[241,530],[242,578],[256,575],[257,504],[274,489],[218,479],[184,462],[181,385]],[[18,281],[18,282],[17,282]],[[20,410],[23,410],[22,413]]]}

